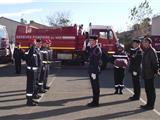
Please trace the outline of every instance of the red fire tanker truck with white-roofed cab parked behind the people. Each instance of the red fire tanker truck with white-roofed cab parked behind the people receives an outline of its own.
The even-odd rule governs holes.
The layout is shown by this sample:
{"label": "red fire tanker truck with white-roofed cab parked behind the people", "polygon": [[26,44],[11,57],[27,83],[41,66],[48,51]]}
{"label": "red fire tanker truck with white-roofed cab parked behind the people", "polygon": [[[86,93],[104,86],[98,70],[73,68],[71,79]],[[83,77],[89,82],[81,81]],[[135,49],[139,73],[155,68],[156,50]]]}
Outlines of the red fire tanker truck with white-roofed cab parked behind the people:
{"label": "red fire tanker truck with white-roofed cab parked behind the people", "polygon": [[[111,27],[90,25],[89,33],[90,35],[98,35],[99,44],[105,54],[113,54],[115,52],[117,37]],[[84,51],[82,48],[86,37],[85,34],[79,34],[77,25],[43,29],[28,25],[17,26],[15,40],[21,43],[23,49],[29,48],[32,38],[50,39],[50,48],[54,51],[53,58],[55,61],[71,60],[84,62]]]}

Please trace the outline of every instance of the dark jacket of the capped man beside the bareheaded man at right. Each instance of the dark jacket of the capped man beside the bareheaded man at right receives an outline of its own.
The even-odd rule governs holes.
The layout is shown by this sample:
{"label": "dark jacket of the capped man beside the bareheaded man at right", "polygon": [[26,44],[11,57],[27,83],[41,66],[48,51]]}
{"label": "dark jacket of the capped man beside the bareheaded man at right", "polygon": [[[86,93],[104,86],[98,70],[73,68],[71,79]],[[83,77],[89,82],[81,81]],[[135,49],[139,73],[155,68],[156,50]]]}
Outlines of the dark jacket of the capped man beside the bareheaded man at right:
{"label": "dark jacket of the capped man beside the bareheaded man at right", "polygon": [[141,48],[130,49],[130,72],[140,72],[141,71],[141,61],[142,61],[142,50]]}

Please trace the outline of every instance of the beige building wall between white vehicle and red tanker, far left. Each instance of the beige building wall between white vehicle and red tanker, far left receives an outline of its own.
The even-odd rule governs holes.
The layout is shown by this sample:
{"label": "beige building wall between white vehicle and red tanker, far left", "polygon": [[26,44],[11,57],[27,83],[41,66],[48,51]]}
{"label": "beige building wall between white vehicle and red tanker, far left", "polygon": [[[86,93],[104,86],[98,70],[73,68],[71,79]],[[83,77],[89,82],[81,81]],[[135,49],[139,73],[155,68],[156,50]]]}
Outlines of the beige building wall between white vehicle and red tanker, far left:
{"label": "beige building wall between white vehicle and red tanker, far left", "polygon": [[6,26],[9,40],[10,41],[15,40],[16,28],[17,28],[17,25],[20,25],[20,23],[18,23],[16,21],[5,19],[2,17],[2,18],[0,18],[0,24]]}

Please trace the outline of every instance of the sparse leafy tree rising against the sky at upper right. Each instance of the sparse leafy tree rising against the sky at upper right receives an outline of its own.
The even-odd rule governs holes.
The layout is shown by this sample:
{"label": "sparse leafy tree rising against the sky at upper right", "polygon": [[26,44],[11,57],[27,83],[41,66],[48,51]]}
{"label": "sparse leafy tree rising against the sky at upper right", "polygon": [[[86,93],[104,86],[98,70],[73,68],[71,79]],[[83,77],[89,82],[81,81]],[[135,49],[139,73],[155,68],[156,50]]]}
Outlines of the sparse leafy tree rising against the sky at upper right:
{"label": "sparse leafy tree rising against the sky at upper right", "polygon": [[133,21],[133,28],[138,31],[138,35],[148,35],[150,33],[152,11],[153,10],[147,0],[140,3],[139,6],[135,6],[131,9],[131,15],[129,18]]}

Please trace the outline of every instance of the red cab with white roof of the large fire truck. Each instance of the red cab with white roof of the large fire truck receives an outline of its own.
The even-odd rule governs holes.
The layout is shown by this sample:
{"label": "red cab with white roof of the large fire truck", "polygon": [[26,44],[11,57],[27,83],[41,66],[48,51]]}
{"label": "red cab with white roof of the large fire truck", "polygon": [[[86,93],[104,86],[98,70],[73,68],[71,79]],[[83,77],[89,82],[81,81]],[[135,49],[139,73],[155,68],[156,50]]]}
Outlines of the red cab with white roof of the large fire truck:
{"label": "red cab with white roof of the large fire truck", "polygon": [[116,51],[118,38],[112,26],[89,25],[89,34],[98,36],[98,44],[102,49],[102,69],[110,62],[110,57]]}

